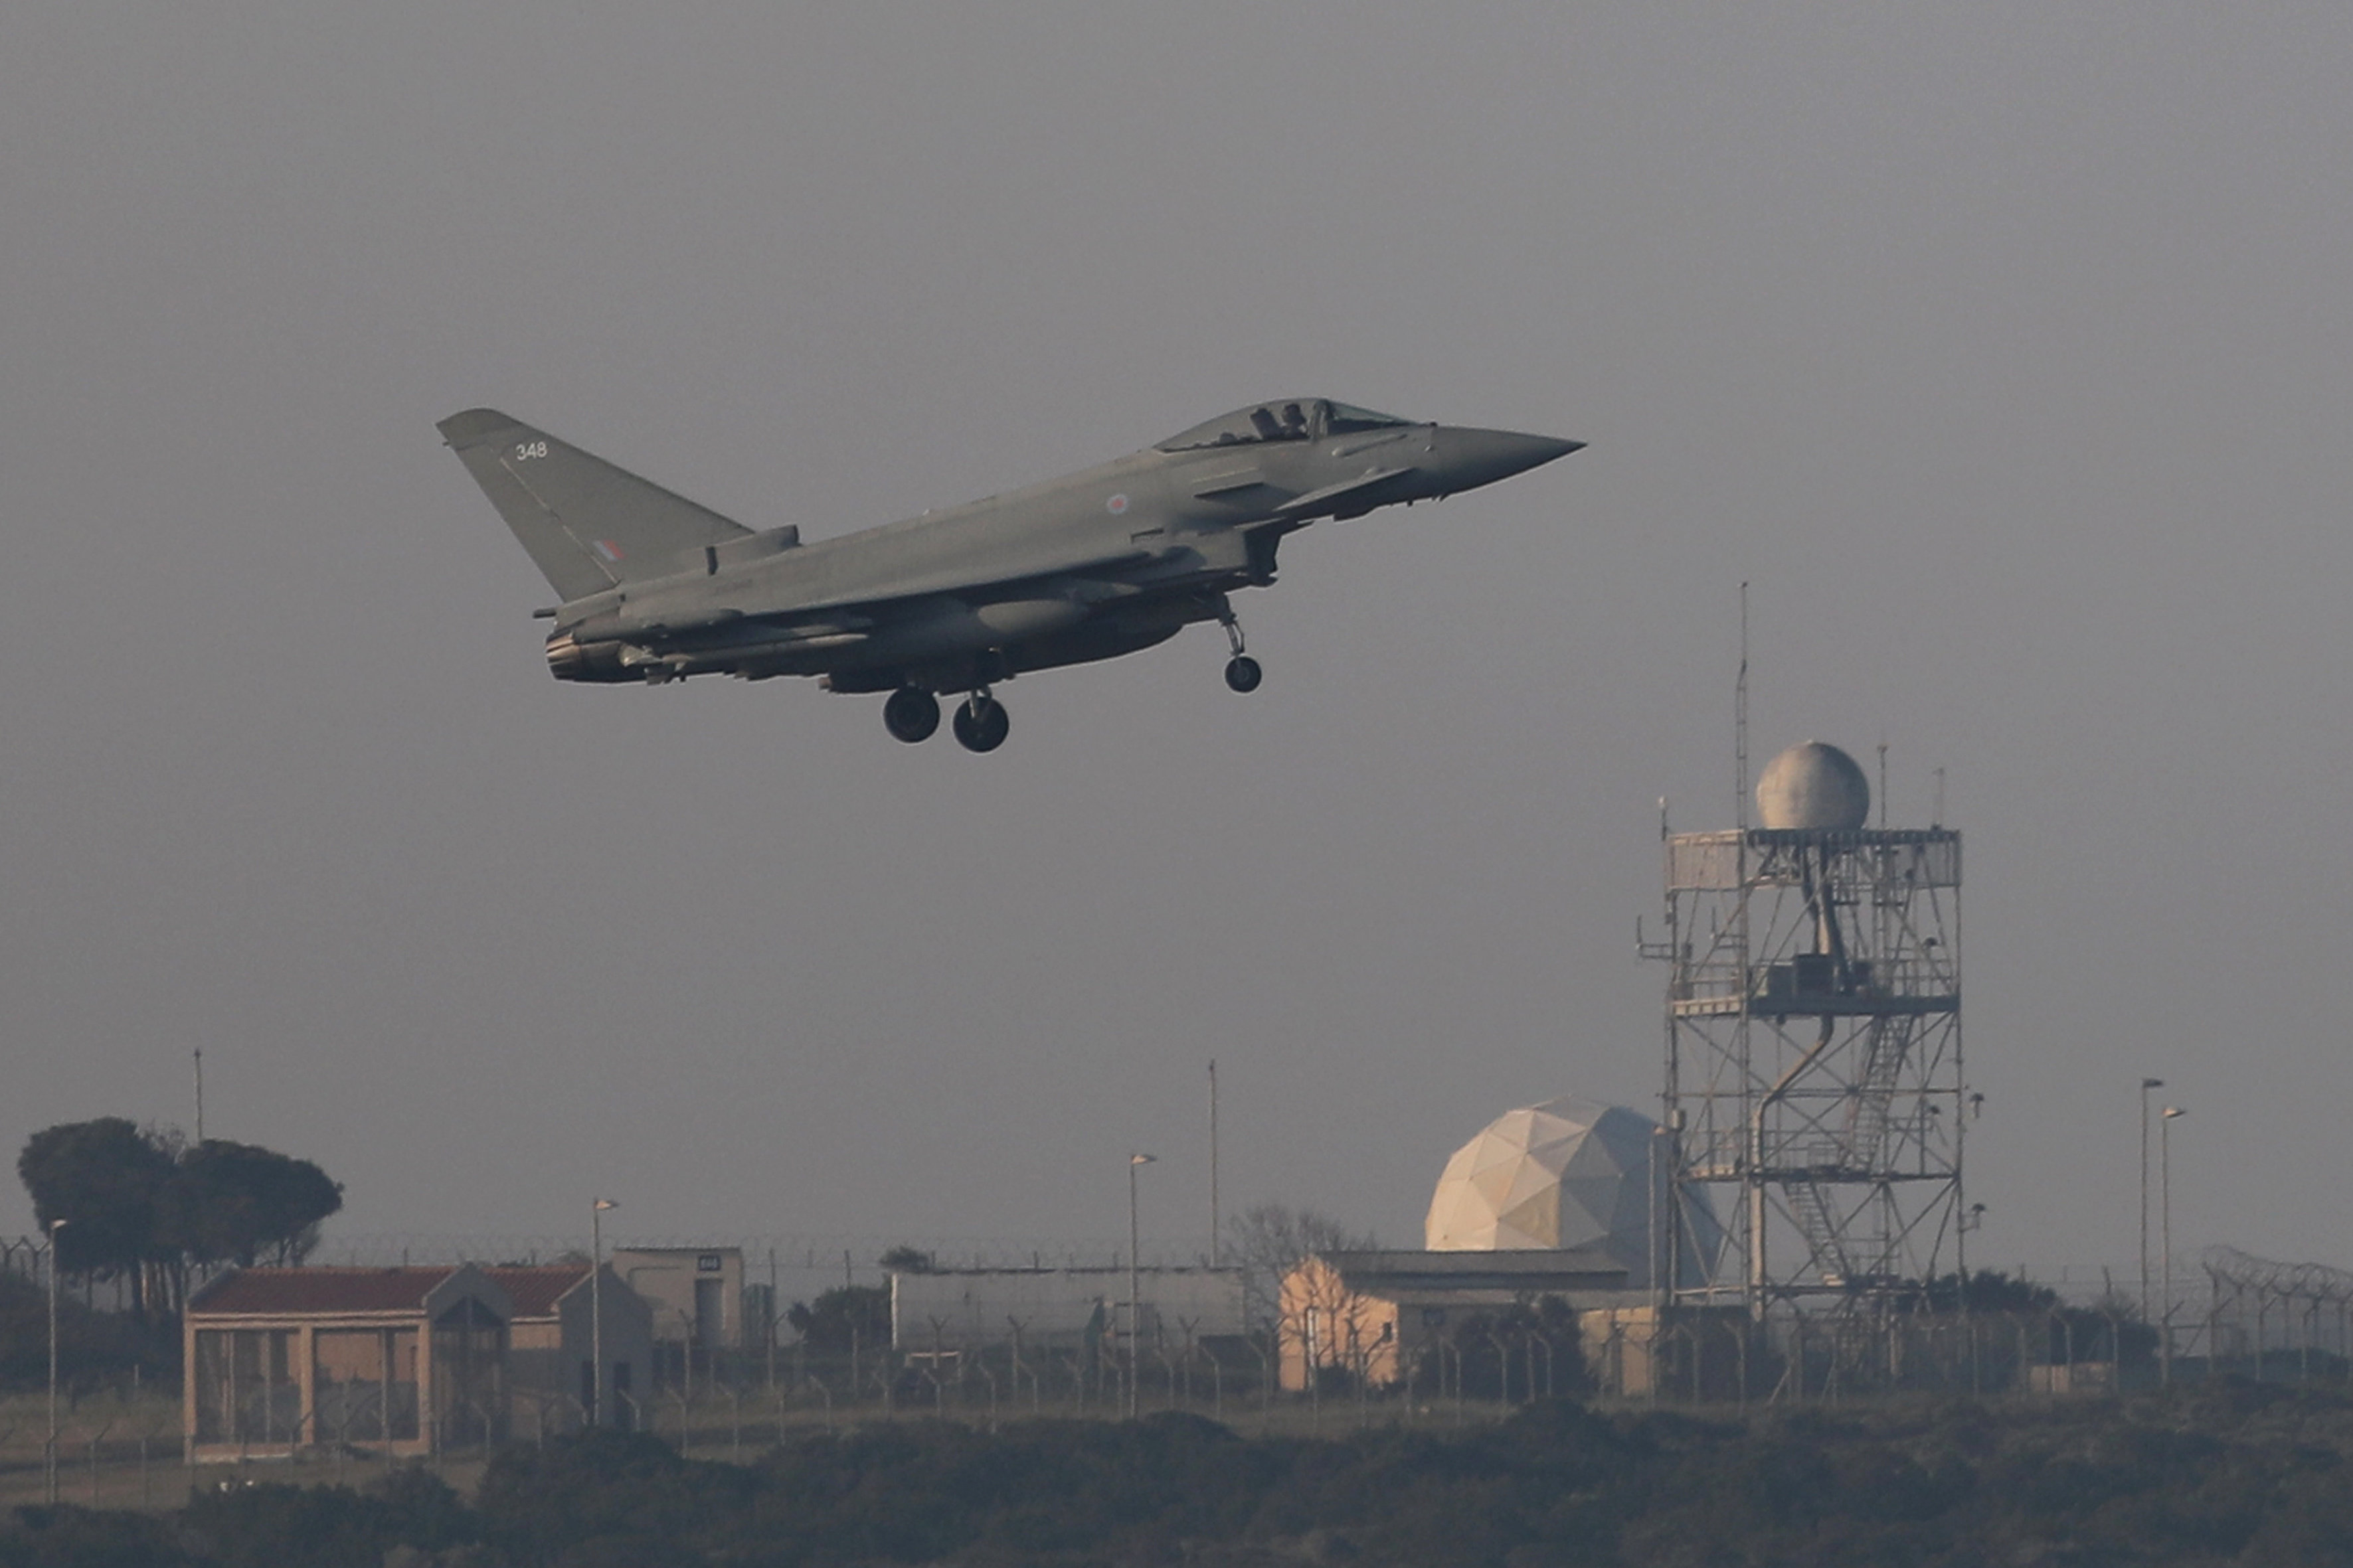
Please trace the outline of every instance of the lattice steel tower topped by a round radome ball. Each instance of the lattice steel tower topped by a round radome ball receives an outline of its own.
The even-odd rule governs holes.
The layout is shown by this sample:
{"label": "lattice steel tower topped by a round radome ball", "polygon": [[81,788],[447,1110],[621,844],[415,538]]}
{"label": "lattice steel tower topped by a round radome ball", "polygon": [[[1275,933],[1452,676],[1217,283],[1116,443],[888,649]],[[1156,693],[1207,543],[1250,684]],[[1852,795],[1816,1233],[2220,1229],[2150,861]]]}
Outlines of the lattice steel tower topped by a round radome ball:
{"label": "lattice steel tower topped by a round radome ball", "polygon": [[[1871,788],[1807,741],[1762,827],[1666,832],[1668,1225],[1708,1187],[1727,1258],[1680,1302],[1873,1309],[1965,1269],[1960,835],[1866,827]],[[1682,1246],[1666,1246],[1680,1258]]]}

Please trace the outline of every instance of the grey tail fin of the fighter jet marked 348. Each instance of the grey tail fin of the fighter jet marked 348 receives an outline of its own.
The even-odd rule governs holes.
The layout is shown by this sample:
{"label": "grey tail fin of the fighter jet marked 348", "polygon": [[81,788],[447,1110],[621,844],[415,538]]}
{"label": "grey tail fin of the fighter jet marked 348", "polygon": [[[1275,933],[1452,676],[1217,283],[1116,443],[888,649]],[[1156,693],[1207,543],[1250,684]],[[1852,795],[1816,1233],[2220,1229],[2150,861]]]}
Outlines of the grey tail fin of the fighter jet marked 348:
{"label": "grey tail fin of the fighter jet marked 348", "polygon": [[496,409],[452,414],[440,433],[565,599],[671,576],[682,552],[751,534]]}

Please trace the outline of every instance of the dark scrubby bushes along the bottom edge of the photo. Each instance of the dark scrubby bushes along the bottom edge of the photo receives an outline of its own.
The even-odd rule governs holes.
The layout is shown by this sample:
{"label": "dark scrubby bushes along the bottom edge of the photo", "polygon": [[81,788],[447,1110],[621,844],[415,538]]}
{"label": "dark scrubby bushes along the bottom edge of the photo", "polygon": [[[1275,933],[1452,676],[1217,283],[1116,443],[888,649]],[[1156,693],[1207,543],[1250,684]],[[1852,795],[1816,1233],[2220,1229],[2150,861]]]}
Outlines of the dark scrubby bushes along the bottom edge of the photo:
{"label": "dark scrubby bushes along the bottom edge of the photo", "polygon": [[426,1472],[256,1486],[172,1516],[19,1509],[0,1568],[1355,1561],[2353,1563],[2353,1399],[2209,1382],[2169,1399],[1802,1408],[1751,1422],[1553,1401],[1471,1432],[1242,1439],[946,1422],[812,1434],[748,1467],[593,1434]]}

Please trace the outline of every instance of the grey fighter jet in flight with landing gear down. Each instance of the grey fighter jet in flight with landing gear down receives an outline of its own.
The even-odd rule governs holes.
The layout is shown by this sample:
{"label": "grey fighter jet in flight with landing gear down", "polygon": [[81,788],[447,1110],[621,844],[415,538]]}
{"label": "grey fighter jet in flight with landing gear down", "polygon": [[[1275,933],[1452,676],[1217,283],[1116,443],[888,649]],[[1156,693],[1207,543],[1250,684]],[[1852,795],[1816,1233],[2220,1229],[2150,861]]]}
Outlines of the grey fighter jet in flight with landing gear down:
{"label": "grey fighter jet in flight with landing gear down", "polygon": [[939,729],[974,752],[1012,722],[995,686],[1118,658],[1186,625],[1226,628],[1226,684],[1254,691],[1231,595],[1275,581],[1275,550],[1362,517],[1527,473],[1584,442],[1433,425],[1325,397],[1249,404],[1096,468],[1007,496],[802,543],[746,529],[496,409],[440,421],[562,602],[548,668],[574,682],[814,675],[887,691],[899,741]]}

